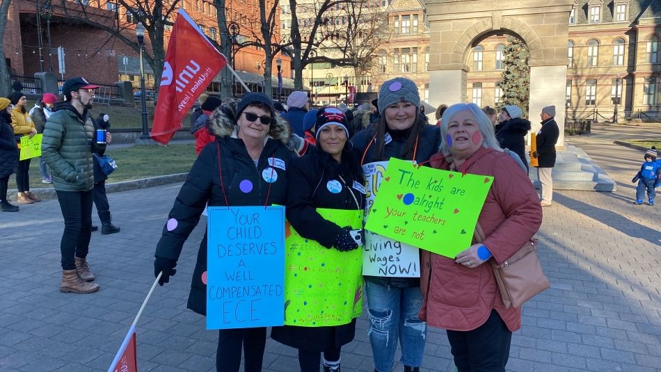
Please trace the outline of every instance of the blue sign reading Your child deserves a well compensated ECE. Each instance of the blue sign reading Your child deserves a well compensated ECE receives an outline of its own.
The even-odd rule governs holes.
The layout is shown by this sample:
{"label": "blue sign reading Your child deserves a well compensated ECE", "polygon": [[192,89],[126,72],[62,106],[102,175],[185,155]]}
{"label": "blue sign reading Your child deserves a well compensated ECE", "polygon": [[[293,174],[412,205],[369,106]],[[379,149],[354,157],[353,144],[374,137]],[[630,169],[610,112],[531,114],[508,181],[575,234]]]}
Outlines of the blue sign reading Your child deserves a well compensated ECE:
{"label": "blue sign reading Your child deserves a well compensated ECE", "polygon": [[207,213],[207,330],[283,325],[285,207]]}

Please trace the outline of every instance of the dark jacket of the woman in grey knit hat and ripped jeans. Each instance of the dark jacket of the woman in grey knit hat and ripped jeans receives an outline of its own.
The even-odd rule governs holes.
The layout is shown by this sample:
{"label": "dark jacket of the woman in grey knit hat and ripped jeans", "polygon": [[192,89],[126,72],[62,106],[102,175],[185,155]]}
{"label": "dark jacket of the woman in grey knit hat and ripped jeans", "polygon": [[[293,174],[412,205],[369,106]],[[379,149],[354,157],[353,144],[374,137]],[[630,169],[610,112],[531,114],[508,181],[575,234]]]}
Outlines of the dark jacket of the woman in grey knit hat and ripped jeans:
{"label": "dark jacket of the woman in grey knit hat and ripped jeans", "polygon": [[[384,146],[385,159],[376,159],[375,157],[375,154],[377,153],[376,143],[372,140],[376,133],[374,127],[363,129],[363,131],[360,131],[356,136],[351,138],[353,151],[356,152],[358,159],[361,159],[361,165],[372,163],[373,161],[387,161],[390,158],[404,159],[401,153],[404,151],[409,131],[410,129],[408,131],[386,131],[386,133],[390,134],[392,141]],[[369,145],[370,141],[372,145]],[[417,161],[417,163],[429,161],[431,155],[438,152],[439,146],[440,127],[436,127],[436,125],[424,125],[420,131],[417,151],[415,152],[415,161]],[[420,286],[420,278],[417,277],[372,277],[366,275],[365,280],[369,280],[370,282],[374,282],[381,286],[393,286],[396,288]]]}

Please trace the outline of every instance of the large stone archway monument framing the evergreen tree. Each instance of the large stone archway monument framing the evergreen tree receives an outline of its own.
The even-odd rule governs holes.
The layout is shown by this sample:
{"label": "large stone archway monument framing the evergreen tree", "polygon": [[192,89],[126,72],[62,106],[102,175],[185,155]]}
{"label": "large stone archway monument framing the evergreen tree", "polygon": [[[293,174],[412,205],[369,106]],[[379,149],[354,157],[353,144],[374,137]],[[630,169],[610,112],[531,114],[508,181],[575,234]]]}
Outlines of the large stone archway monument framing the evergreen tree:
{"label": "large stone archway monument framing the evergreen tree", "polygon": [[[548,5],[551,3],[552,5]],[[431,26],[429,101],[468,102],[467,55],[475,42],[494,32],[523,40],[530,50],[529,116],[539,129],[544,106],[556,106],[564,140],[568,19],[573,0],[427,0]]]}

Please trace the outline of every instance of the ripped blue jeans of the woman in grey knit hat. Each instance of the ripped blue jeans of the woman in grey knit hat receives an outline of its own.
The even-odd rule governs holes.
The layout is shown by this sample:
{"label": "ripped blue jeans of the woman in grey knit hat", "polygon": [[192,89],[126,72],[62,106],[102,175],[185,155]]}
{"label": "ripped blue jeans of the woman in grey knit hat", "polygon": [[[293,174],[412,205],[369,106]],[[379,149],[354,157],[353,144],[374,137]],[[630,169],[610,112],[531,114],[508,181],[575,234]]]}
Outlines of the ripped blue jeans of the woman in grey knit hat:
{"label": "ripped blue jeans of the woman in grey knit hat", "polygon": [[369,310],[369,342],[372,343],[374,367],[378,372],[390,372],[401,343],[401,359],[405,366],[422,365],[427,324],[417,317],[422,306],[419,286],[392,288],[365,281]]}

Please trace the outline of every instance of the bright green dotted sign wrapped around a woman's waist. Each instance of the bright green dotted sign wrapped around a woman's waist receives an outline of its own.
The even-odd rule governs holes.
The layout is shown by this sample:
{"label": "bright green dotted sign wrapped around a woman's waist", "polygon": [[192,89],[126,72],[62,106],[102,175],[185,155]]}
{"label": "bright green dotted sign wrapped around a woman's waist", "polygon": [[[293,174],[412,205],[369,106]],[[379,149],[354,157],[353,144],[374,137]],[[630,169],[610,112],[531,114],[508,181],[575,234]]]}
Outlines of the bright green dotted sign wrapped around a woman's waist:
{"label": "bright green dotted sign wrapped around a woman's waist", "polygon": [[[340,226],[363,228],[363,211],[317,209]],[[363,253],[327,249],[285,224],[285,325],[347,324],[363,313]]]}

